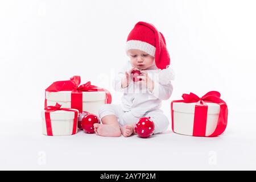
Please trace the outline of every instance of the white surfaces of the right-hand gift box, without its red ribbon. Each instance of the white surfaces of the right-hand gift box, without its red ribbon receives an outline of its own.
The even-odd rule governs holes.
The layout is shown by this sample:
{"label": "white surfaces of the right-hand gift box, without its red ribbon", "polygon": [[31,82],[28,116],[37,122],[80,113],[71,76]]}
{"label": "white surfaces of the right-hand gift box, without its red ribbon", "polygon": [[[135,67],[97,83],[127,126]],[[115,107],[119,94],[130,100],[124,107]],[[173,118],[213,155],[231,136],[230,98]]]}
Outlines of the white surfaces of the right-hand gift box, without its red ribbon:
{"label": "white surfaces of the right-hand gift box, without its red ribbon", "polygon": [[[208,105],[207,110],[207,125],[205,136],[211,135],[216,129],[218,122],[218,115],[220,113],[220,105],[205,102]],[[173,129],[175,133],[183,134],[183,135],[193,135],[193,124],[195,117],[195,105],[196,102],[193,103],[185,103],[185,102],[173,102],[172,110],[173,110]]]}

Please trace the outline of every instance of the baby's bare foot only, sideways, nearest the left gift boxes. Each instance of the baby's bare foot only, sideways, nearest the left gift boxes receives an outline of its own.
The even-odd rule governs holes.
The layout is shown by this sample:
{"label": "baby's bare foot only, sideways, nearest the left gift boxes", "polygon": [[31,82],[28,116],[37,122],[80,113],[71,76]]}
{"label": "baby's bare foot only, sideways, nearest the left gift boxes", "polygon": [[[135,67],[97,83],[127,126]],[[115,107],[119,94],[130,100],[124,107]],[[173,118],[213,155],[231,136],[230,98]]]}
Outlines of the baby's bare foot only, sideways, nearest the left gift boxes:
{"label": "baby's bare foot only, sideways, nearest the left gift boxes", "polygon": [[121,131],[118,125],[103,125],[95,123],[94,131],[102,137],[120,137]]}

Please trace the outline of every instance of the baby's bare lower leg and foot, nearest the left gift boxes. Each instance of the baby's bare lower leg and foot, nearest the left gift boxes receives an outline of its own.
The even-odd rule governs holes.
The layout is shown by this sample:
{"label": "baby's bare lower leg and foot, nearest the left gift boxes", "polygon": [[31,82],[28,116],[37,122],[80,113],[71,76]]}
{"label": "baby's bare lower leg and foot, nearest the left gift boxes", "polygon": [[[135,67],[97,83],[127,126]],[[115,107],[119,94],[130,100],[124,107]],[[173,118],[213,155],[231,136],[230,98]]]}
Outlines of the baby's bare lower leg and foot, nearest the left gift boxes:
{"label": "baby's bare lower leg and foot, nearest the left gift boxes", "polygon": [[101,118],[102,124],[95,123],[94,131],[103,137],[120,137],[121,130],[115,115],[106,115]]}

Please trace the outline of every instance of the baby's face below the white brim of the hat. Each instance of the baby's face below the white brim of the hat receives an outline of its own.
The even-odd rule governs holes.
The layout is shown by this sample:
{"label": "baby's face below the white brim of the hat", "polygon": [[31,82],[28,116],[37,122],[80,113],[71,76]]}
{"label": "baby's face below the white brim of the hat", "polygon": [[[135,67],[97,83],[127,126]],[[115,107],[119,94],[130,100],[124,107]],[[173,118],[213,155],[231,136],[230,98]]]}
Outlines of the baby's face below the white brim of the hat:
{"label": "baby's face below the white brim of the hat", "polygon": [[130,49],[127,51],[131,64],[133,67],[138,69],[147,69],[154,64],[154,57],[149,55],[148,53],[138,50],[138,49]]}

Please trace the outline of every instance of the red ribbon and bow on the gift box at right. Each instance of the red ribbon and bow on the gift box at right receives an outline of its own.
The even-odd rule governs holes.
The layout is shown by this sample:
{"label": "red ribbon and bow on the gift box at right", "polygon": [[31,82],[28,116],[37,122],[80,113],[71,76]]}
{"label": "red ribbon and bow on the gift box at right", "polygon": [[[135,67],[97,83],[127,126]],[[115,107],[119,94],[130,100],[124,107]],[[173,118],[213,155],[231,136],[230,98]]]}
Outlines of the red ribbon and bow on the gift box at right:
{"label": "red ribbon and bow on the gift box at right", "polygon": [[171,111],[172,111],[172,131],[174,131],[174,110],[172,109],[172,105],[174,102],[185,102],[192,103],[196,102],[195,105],[195,116],[193,123],[193,136],[196,137],[206,137],[206,126],[207,126],[207,110],[208,105],[207,102],[213,102],[220,105],[220,114],[218,115],[217,126],[214,132],[207,137],[216,137],[222,134],[228,123],[228,106],[226,102],[221,100],[221,94],[217,91],[210,91],[205,94],[203,97],[198,97],[194,93],[183,94],[183,100],[176,100],[171,102]]}

